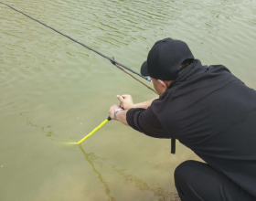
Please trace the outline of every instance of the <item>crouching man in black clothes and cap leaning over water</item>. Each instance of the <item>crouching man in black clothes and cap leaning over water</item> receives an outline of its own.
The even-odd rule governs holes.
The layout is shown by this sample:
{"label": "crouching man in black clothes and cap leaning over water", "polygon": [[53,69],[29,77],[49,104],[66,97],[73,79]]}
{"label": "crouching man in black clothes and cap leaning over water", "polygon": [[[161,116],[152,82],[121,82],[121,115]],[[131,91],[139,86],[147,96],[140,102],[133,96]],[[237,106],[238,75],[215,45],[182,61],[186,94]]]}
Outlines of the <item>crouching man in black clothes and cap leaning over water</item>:
{"label": "crouching man in black clothes and cap leaning over water", "polygon": [[141,68],[160,95],[133,104],[130,95],[109,111],[112,120],[155,138],[183,143],[206,163],[175,171],[183,201],[256,200],[256,91],[222,65],[203,66],[187,44],[157,41]]}

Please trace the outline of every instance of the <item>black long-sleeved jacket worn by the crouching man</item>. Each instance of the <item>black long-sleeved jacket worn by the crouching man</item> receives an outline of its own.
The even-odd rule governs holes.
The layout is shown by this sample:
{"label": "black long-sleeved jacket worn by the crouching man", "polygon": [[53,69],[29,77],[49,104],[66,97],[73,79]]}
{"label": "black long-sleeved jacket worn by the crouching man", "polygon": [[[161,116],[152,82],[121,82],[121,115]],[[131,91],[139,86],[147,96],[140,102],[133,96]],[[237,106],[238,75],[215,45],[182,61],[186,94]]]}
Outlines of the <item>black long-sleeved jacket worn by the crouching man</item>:
{"label": "black long-sleeved jacket worn by the crouching man", "polygon": [[256,91],[224,66],[190,64],[147,109],[130,109],[133,129],[175,138],[256,196]]}

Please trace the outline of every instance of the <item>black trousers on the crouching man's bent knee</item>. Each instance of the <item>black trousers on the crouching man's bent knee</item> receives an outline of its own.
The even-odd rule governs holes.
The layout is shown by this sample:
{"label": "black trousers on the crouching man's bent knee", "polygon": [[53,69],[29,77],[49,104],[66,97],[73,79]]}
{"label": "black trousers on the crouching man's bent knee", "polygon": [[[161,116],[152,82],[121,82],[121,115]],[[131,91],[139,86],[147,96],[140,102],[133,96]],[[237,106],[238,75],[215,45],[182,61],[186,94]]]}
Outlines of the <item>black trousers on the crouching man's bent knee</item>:
{"label": "black trousers on the crouching man's bent knee", "polygon": [[175,171],[178,195],[182,201],[255,201],[226,175],[221,175],[208,164],[186,161]]}

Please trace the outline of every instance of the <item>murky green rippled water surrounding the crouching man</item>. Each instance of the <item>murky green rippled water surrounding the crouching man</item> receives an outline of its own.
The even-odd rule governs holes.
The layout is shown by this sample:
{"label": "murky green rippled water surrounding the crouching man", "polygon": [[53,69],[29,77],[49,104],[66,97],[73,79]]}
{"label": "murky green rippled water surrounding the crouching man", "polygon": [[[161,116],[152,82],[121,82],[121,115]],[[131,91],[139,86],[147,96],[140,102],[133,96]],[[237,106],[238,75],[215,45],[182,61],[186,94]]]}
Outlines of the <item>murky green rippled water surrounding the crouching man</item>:
{"label": "murky green rippled water surrounding the crouching man", "polygon": [[[5,0],[139,71],[158,39],[184,40],[203,64],[224,64],[256,89],[256,2]],[[151,90],[65,37],[0,5],[0,200],[171,200],[181,144],[109,122],[117,94]]]}

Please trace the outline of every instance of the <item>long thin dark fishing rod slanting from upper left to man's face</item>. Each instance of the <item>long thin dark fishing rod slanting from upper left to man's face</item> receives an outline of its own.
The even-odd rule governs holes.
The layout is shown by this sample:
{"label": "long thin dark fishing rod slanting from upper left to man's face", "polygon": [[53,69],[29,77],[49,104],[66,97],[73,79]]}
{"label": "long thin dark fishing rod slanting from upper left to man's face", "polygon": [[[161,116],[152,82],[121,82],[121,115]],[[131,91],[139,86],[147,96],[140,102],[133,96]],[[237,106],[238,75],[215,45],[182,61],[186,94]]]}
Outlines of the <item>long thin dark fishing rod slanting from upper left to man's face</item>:
{"label": "long thin dark fishing rod slanting from upper left to man's face", "polygon": [[[3,2],[0,2],[0,3],[1,3],[2,5],[6,5],[6,4],[3,3]],[[118,69],[123,70],[123,72],[125,72],[126,74],[130,75],[131,77],[133,77],[133,79],[136,79],[136,78],[135,78],[132,74],[130,74],[130,73],[128,73],[127,71],[125,71],[124,69],[127,69],[127,70],[133,72],[134,74],[140,76],[140,77],[143,78],[143,79],[146,79],[147,81],[151,81],[151,79],[146,78],[146,77],[144,77],[143,75],[141,75],[140,73],[136,72],[135,70],[130,69],[130,68],[124,66],[124,65],[121,64],[120,62],[116,61],[114,58],[109,58],[109,57],[107,57],[106,55],[102,54],[101,52],[99,52],[99,51],[97,51],[97,50],[95,50],[95,49],[93,49],[93,48],[90,48],[89,46],[86,46],[85,44],[81,43],[80,41],[78,41],[78,40],[76,40],[76,39],[74,39],[74,38],[72,38],[72,37],[69,37],[69,36],[66,35],[66,34],[61,33],[59,30],[57,30],[57,29],[55,29],[55,28],[53,28],[53,27],[51,27],[51,26],[48,26],[48,25],[46,25],[46,24],[40,22],[39,20],[33,18],[32,16],[28,16],[27,14],[25,14],[25,13],[23,13],[23,12],[17,10],[15,7],[13,7],[13,6],[11,6],[11,5],[6,5],[6,6],[10,7],[11,9],[15,10],[15,11],[18,12],[18,13],[21,13],[21,14],[24,15],[24,16],[27,16],[28,18],[30,18],[30,19],[32,19],[32,20],[35,20],[37,23],[39,23],[39,24],[41,24],[41,25],[43,25],[43,26],[47,26],[48,28],[50,28],[50,29],[52,29],[53,31],[55,31],[55,32],[59,33],[60,35],[62,35],[63,37],[68,37],[70,40],[74,41],[75,43],[80,44],[80,45],[83,46],[84,48],[88,48],[88,49],[90,49],[91,51],[97,53],[98,55],[101,55],[101,57],[109,59],[109,60],[112,62],[112,64],[113,64],[114,66],[116,66]],[[121,68],[120,66],[123,67],[124,69]],[[147,87],[149,90],[153,90],[156,94],[158,94],[154,89],[152,89],[151,87],[149,87],[149,86],[147,86],[146,84],[144,84],[144,82],[142,82],[141,80],[139,80],[139,79],[136,79],[136,80],[139,81],[140,83],[142,83],[142,84],[143,84],[145,87]]]}

